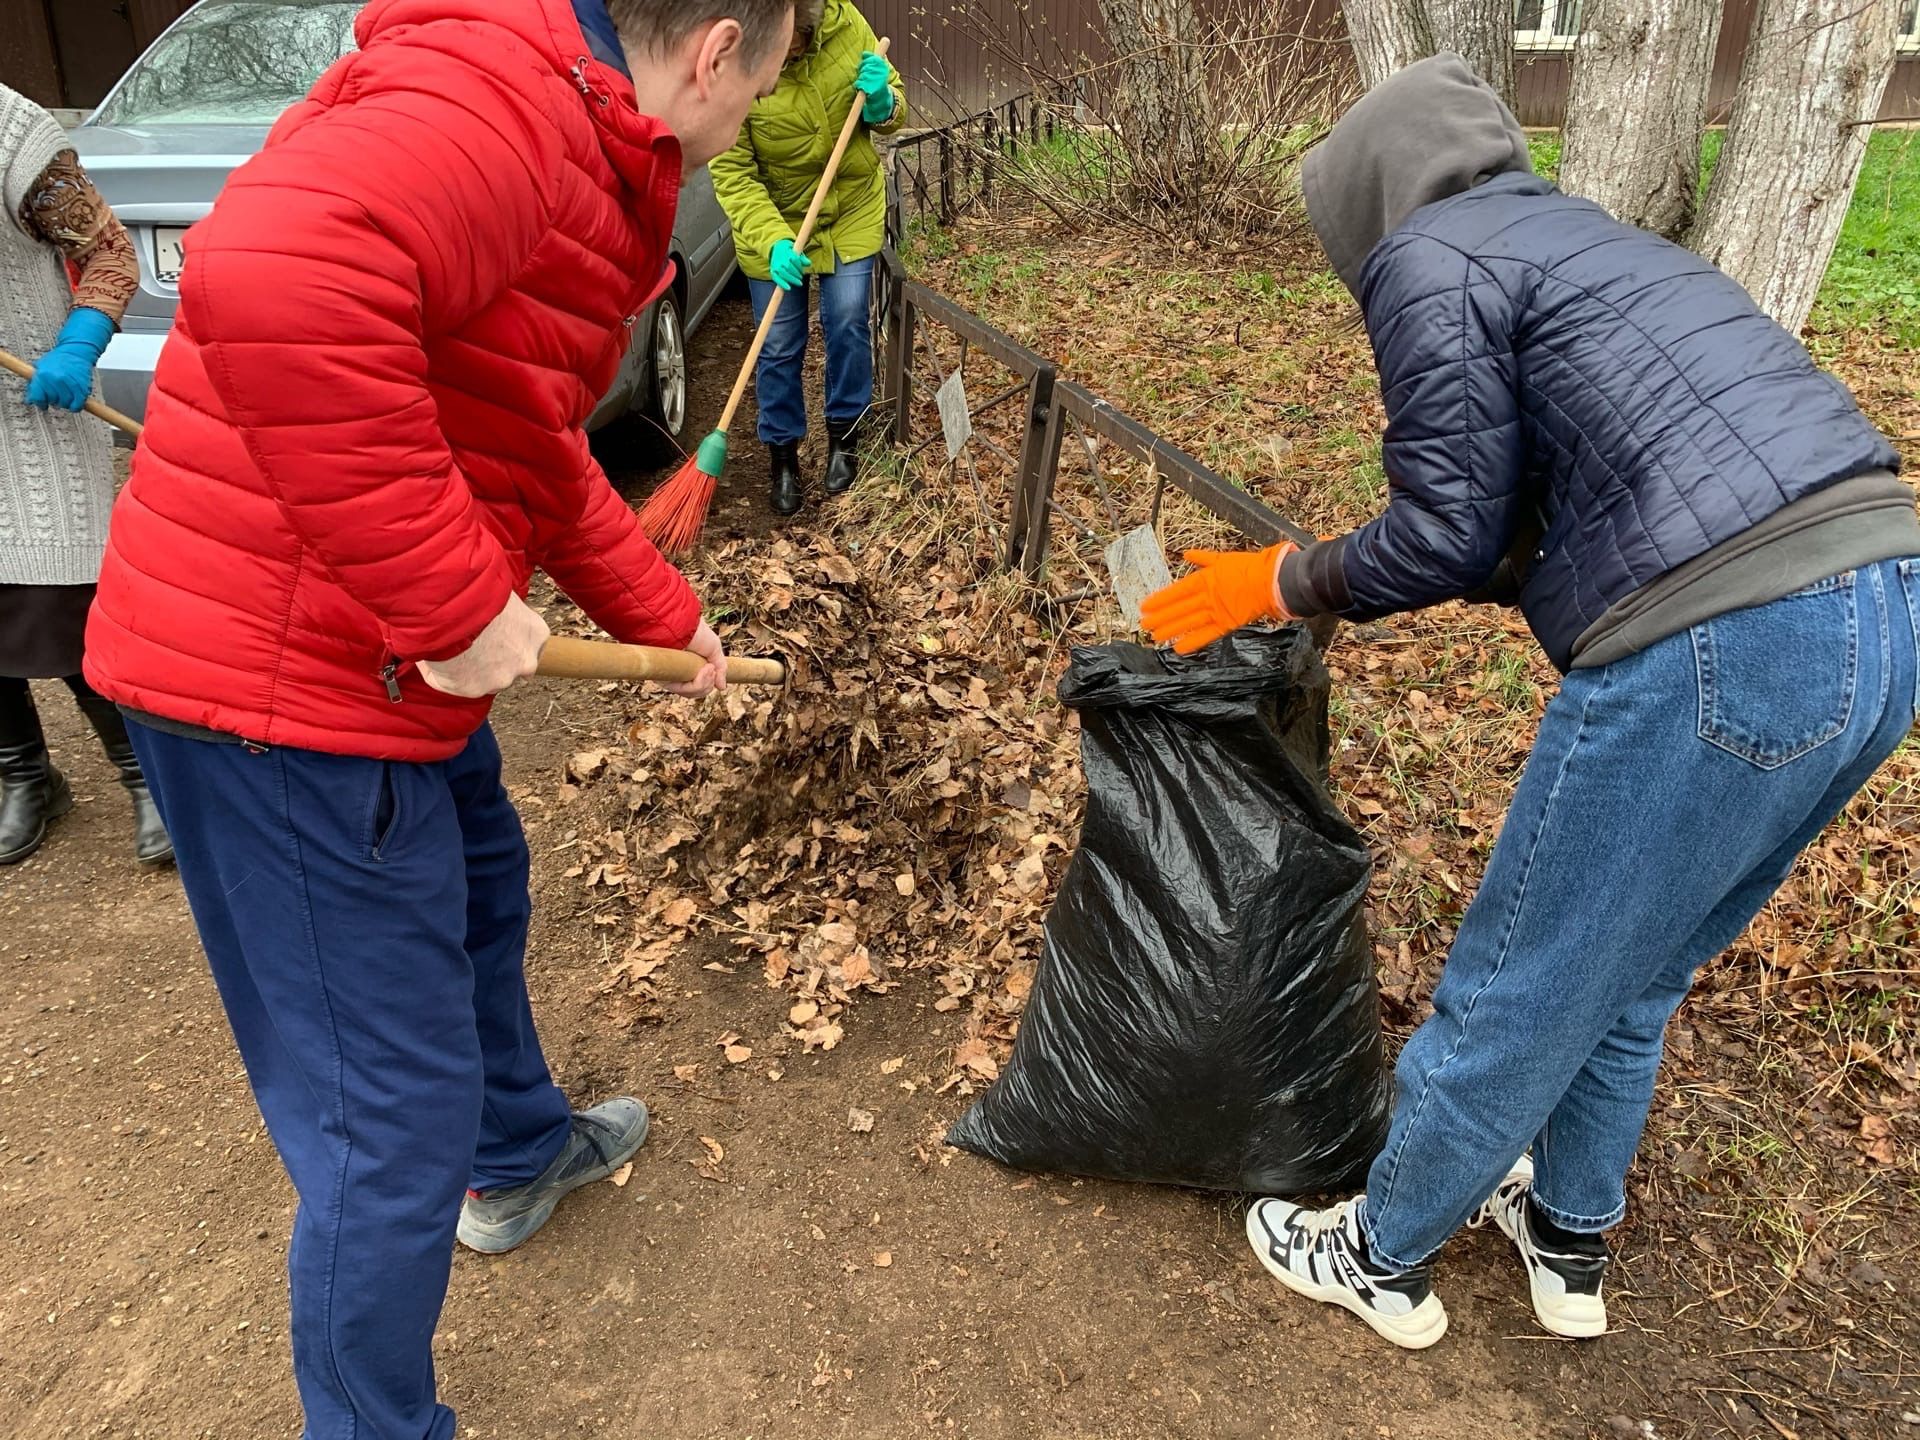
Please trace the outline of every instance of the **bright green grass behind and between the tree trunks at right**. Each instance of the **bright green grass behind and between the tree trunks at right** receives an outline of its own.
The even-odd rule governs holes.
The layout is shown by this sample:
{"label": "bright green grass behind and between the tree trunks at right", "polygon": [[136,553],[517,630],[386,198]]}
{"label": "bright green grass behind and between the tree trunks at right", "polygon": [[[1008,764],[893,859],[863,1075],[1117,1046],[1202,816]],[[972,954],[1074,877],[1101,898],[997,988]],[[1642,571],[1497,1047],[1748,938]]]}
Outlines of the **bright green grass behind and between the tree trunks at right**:
{"label": "bright green grass behind and between the tree trunks at right", "polygon": [[[1720,159],[1724,131],[1707,131],[1699,148],[1699,192]],[[1559,134],[1528,140],[1534,169],[1559,175]],[[1905,346],[1920,346],[1920,131],[1880,131],[1847,207],[1847,221],[1814,303],[1816,330],[1882,328]]]}

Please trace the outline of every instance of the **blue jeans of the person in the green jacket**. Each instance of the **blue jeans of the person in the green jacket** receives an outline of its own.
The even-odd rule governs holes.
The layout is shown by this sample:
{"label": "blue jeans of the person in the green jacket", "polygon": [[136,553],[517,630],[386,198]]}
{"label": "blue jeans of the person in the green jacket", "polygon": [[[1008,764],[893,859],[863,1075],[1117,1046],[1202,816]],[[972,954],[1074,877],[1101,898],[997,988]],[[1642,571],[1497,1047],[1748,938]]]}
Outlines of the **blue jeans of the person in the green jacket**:
{"label": "blue jeans of the person in the green jacket", "polygon": [[[822,275],[820,330],[828,340],[828,424],[852,424],[874,403],[874,257],[843,259]],[[749,280],[753,321],[774,298],[772,280]],[[753,376],[760,401],[760,440],[787,445],[806,438],[806,286],[787,292]]]}

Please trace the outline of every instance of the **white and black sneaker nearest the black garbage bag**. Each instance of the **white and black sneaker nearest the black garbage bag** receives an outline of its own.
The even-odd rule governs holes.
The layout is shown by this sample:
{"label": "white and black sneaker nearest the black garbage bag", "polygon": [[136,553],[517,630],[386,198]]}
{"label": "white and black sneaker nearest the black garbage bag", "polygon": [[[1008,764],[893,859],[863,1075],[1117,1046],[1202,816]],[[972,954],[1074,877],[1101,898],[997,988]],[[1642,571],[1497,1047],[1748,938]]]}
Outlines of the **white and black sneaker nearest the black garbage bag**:
{"label": "white and black sneaker nearest the black garbage bag", "polygon": [[1246,1238],[1281,1284],[1359,1315],[1404,1350],[1425,1350],[1446,1334],[1446,1306],[1432,1292],[1432,1265],[1390,1271],[1367,1256],[1359,1200],[1306,1210],[1286,1200],[1256,1200]]}

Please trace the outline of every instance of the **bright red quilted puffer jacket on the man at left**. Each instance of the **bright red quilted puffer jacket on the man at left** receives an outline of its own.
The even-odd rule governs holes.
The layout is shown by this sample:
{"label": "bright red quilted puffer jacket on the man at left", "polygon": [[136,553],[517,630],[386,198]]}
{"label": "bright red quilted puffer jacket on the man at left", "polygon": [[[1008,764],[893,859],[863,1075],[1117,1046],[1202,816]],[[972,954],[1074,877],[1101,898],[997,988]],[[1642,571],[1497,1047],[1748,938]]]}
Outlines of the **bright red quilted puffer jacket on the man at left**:
{"label": "bright red quilted puffer jacket on the man at left", "polygon": [[488,701],[411,662],[536,564],[618,639],[699,624],[582,430],[664,288],[680,144],[568,0],[372,0],[357,36],[188,236],[86,676],[263,745],[438,760]]}

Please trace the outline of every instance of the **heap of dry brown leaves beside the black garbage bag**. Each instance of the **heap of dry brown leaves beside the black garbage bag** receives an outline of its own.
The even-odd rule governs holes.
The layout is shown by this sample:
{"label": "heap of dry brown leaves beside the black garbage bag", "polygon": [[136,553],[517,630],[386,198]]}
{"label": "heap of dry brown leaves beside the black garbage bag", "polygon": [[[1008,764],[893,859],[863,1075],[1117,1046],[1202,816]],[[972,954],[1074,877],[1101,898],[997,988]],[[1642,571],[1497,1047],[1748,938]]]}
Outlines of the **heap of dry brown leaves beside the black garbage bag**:
{"label": "heap of dry brown leaves beside the black garbage bag", "polygon": [[[831,1050],[856,996],[929,970],[935,1008],[970,1016],[950,1083],[998,1073],[1079,829],[1077,728],[1052,697],[1068,634],[995,572],[989,532],[876,524],[925,505],[876,480],[835,534],[699,555],[728,647],[783,655],[791,685],[628,691],[626,743],[572,756],[561,799],[603,820],[566,874],[620,933],[605,985],[637,1014],[668,962],[745,952],[789,991],[791,1039]],[[728,1060],[751,1054],[732,1037]]]}

